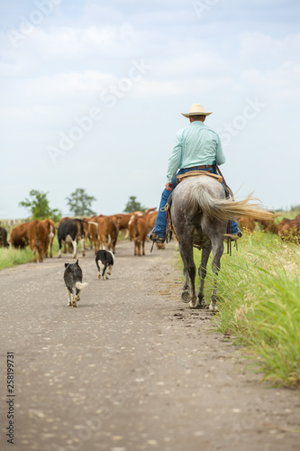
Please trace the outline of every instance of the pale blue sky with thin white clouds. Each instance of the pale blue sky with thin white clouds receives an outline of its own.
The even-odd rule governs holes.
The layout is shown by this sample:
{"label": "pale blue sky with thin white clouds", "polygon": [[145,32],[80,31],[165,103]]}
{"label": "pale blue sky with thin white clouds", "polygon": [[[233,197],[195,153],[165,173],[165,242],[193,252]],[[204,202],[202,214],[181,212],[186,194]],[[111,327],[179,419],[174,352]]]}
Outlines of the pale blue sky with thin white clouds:
{"label": "pale blue sky with thin white clouds", "polygon": [[300,2],[0,0],[0,219],[158,207],[180,113],[213,115],[237,198],[300,204]]}

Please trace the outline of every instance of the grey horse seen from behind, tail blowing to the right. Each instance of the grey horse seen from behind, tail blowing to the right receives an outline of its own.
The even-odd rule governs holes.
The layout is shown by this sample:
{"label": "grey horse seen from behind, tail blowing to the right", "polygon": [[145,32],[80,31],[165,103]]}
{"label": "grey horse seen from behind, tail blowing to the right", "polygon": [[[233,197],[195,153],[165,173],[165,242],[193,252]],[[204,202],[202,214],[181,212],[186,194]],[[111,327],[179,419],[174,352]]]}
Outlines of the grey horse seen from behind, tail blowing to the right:
{"label": "grey horse seen from behind, tail blowing to the right", "polygon": [[[227,221],[232,217],[250,216],[256,219],[273,219],[274,214],[248,196],[239,201],[226,198],[223,185],[208,176],[191,177],[181,181],[172,192],[168,204],[171,211],[173,231],[177,236],[179,250],[184,263],[186,278],[181,299],[189,302],[191,308],[205,307],[205,276],[209,255],[213,251],[214,287],[209,308],[218,311],[217,275],[221,268],[223,241]],[[198,269],[200,288],[195,295],[195,262],[193,246],[202,250]]]}

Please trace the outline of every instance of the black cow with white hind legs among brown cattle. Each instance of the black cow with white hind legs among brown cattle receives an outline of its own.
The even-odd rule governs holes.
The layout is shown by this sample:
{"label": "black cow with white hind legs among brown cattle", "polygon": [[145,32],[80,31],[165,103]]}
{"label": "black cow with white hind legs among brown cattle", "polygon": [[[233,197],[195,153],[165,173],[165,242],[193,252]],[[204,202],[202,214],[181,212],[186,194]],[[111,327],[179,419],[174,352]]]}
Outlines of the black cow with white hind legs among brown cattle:
{"label": "black cow with white hind legs among brown cattle", "polygon": [[85,233],[83,228],[83,222],[81,219],[67,219],[59,224],[58,229],[59,240],[59,258],[61,257],[61,245],[62,243],[72,243],[73,245],[73,258],[76,258],[77,254],[77,241],[80,240],[82,248],[82,256],[85,253]]}

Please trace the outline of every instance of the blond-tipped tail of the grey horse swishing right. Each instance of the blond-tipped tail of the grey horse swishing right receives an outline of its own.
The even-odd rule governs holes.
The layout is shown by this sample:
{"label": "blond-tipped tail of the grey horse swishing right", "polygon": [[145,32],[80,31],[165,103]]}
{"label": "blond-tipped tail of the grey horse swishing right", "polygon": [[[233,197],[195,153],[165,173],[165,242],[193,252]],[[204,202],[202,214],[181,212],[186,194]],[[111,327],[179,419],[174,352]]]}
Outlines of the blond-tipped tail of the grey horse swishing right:
{"label": "blond-tipped tail of the grey horse swishing right", "polygon": [[201,183],[195,184],[191,189],[191,203],[195,211],[202,211],[212,220],[226,221],[232,217],[253,217],[254,219],[273,220],[274,213],[262,207],[252,194],[241,200],[228,198],[214,198],[208,189]]}

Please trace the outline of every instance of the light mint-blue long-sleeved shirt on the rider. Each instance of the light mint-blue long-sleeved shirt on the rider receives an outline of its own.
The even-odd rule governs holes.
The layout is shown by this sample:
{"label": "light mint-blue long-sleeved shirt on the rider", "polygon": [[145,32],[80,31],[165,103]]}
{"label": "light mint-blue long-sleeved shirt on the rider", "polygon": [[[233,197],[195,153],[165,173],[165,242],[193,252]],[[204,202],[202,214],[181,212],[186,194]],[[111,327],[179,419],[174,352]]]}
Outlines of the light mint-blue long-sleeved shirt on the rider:
{"label": "light mint-blue long-sleeved shirt on the rider", "polygon": [[167,183],[172,183],[179,169],[211,165],[214,161],[218,165],[226,161],[220,138],[202,121],[194,121],[176,135],[173,152],[168,159]]}

